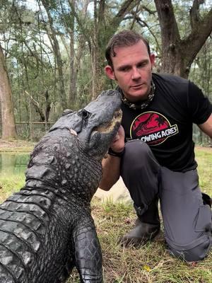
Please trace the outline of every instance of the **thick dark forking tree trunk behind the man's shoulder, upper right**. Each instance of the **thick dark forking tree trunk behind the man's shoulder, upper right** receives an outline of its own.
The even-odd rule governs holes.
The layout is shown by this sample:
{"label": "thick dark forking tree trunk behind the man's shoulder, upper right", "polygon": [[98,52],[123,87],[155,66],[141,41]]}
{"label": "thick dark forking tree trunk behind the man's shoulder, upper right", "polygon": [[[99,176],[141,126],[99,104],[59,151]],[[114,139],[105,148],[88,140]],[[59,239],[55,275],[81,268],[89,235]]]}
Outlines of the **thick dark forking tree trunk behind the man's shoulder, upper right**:
{"label": "thick dark forking tree trunk behind the man's shoulder, upper right", "polygon": [[172,1],[155,0],[162,39],[162,73],[176,74],[185,79],[189,76],[192,62],[212,30],[212,8],[204,18],[200,18],[199,6],[202,3],[194,0],[190,10],[191,33],[181,39]]}

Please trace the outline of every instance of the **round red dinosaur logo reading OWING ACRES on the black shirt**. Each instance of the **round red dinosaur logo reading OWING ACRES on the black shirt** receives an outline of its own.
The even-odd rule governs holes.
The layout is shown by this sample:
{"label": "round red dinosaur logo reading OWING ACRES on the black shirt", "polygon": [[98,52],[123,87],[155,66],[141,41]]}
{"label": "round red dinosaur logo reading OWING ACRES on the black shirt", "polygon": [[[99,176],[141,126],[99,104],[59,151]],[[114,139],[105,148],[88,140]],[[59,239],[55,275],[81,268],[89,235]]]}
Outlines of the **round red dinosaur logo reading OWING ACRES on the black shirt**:
{"label": "round red dinosaur logo reading OWING ACRES on the black shirt", "polygon": [[177,134],[177,125],[171,125],[165,116],[158,112],[144,112],[131,124],[131,139],[141,139],[148,145],[162,144],[166,139]]}

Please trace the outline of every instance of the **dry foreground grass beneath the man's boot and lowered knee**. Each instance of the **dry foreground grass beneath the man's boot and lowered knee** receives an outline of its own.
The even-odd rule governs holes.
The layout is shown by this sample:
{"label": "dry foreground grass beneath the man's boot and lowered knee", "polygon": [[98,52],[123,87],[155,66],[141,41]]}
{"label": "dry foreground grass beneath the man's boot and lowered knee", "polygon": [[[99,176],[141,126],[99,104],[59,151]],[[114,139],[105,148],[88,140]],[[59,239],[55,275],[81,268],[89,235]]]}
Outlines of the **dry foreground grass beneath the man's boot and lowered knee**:
{"label": "dry foreground grass beneath the man's boot and lowered knee", "polygon": [[94,199],[92,208],[102,246],[105,282],[212,282],[212,253],[196,265],[177,260],[167,252],[163,233],[142,248],[122,248],[119,238],[134,226],[136,219],[132,207],[102,204]]}

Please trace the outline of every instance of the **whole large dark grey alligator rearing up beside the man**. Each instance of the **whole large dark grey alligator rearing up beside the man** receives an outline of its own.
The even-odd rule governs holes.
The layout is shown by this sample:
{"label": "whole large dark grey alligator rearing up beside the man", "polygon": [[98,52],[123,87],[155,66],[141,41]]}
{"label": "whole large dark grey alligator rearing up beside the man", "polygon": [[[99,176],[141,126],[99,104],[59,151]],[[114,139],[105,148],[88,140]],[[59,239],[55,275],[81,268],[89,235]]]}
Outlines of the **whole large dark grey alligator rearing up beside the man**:
{"label": "whole large dark grey alligator rearing up beside the man", "polygon": [[102,283],[102,252],[90,201],[119,128],[118,91],[64,112],[30,154],[25,185],[0,206],[0,282]]}

